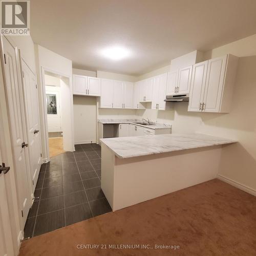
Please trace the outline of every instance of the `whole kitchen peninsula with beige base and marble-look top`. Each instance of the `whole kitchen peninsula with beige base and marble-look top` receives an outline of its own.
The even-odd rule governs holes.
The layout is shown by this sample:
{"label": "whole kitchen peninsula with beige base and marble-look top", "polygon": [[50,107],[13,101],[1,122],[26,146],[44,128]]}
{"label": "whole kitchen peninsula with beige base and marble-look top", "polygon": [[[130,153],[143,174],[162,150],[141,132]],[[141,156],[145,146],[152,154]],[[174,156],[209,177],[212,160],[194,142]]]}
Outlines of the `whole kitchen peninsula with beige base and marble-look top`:
{"label": "whole kitchen peninsula with beige base and marble-look top", "polygon": [[101,188],[113,211],[216,178],[222,146],[236,142],[197,133],[100,140]]}

